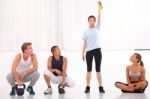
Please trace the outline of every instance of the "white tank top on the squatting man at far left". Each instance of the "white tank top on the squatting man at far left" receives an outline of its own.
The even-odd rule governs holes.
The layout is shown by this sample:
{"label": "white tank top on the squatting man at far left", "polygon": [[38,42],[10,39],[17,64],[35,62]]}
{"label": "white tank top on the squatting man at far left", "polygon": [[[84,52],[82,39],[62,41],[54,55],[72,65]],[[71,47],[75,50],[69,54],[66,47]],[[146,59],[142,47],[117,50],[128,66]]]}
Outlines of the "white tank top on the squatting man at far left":
{"label": "white tank top on the squatting man at far left", "polygon": [[21,60],[17,66],[16,71],[18,73],[23,72],[25,69],[30,68],[32,66],[31,56],[28,57],[28,59],[25,61],[23,59],[23,54],[21,54]]}

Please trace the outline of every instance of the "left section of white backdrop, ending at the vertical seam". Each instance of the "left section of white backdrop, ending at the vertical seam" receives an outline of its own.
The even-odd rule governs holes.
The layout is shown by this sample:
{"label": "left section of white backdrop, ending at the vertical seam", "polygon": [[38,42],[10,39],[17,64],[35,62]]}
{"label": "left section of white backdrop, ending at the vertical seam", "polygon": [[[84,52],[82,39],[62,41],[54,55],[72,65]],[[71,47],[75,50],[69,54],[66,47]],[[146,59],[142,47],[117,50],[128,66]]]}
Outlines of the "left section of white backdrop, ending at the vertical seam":
{"label": "left section of white backdrop, ending at the vertical seam", "polygon": [[57,0],[0,0],[1,50],[16,50],[24,41],[35,49],[58,43]]}

